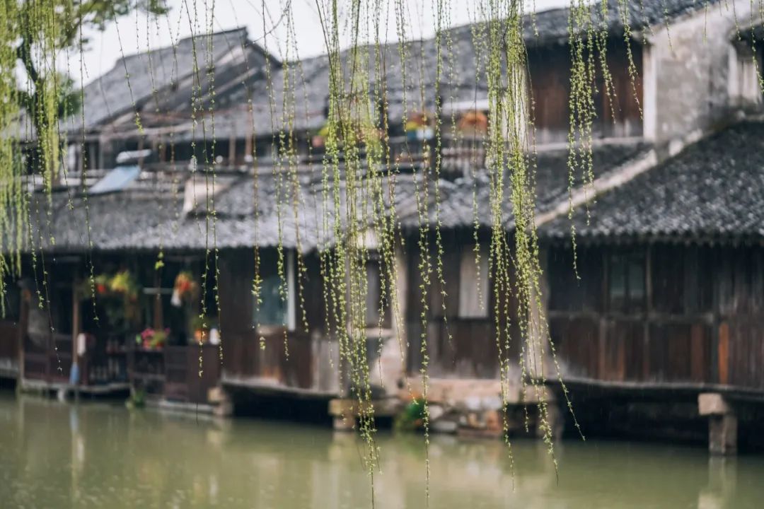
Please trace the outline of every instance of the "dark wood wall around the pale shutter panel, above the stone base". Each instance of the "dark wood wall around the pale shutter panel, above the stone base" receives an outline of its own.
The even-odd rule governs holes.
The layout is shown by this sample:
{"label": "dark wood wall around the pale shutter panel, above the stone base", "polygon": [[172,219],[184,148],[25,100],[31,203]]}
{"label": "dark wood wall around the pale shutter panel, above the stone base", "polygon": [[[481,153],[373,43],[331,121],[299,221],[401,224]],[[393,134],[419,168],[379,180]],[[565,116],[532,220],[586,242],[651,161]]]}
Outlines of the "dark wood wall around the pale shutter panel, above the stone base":
{"label": "dark wood wall around the pale shutter panel, above the stone base", "polygon": [[[426,343],[429,356],[427,372],[434,378],[446,379],[497,379],[499,377],[499,346],[502,345],[502,358],[517,358],[516,344],[520,333],[516,320],[516,299],[512,292],[506,295],[510,310],[509,349],[506,349],[507,335],[499,333],[507,324],[507,317],[502,316],[497,324],[496,279],[488,280],[487,300],[484,301],[485,317],[461,317],[459,313],[459,295],[461,285],[474,285],[474,281],[461,281],[460,266],[464,256],[474,263],[474,239],[471,231],[457,232],[442,230],[442,263],[445,288],[439,282],[434,266],[438,263],[433,247],[430,259],[433,272],[429,276],[431,285],[426,290],[428,309],[422,320],[422,271],[419,269],[421,251],[417,247],[418,237],[408,242],[406,253],[408,285],[406,295],[406,336],[409,343],[407,370],[416,375],[422,368],[422,340]],[[434,242],[434,241],[433,241]],[[484,273],[487,272],[487,248],[489,240],[481,237],[481,256],[484,260]],[[512,269],[513,271],[513,269]],[[442,291],[445,290],[445,311]],[[500,308],[504,309],[503,304]],[[422,337],[422,328],[426,333]]]}

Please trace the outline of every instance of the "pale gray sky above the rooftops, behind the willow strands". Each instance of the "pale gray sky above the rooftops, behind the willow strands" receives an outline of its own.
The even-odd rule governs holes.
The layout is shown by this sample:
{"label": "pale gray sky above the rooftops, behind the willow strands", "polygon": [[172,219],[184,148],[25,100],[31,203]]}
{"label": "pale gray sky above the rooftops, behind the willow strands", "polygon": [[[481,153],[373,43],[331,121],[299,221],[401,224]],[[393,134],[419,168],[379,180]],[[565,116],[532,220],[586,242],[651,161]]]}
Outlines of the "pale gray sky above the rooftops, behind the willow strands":
{"label": "pale gray sky above the rooftops, behind the willow strands", "polygon": [[[284,58],[286,56],[286,41],[290,40],[287,35],[289,30],[283,12],[290,8],[294,22],[293,47],[300,58],[315,56],[325,53],[324,39],[319,21],[319,11],[316,1],[320,5],[326,5],[327,0],[168,0],[170,14],[160,19],[148,19],[143,14],[129,15],[127,18],[118,20],[118,24],[111,24],[106,31],[91,31],[89,48],[85,53],[85,76],[84,82],[89,82],[112,69],[116,60],[124,53],[125,55],[145,51],[148,48],[170,46],[173,41],[187,37],[190,34],[204,34],[212,28],[215,31],[226,30],[238,26],[246,26],[251,40],[267,44],[271,53]],[[434,33],[435,17],[432,4],[435,0],[404,0],[407,8],[406,29],[409,33],[406,38],[430,37]],[[548,8],[569,5],[571,0],[526,0],[529,2],[528,10],[536,11]],[[371,4],[373,2],[363,2]],[[340,5],[348,5],[346,0],[340,0]],[[387,36],[380,37],[384,40],[397,40],[395,14],[393,0],[380,0],[386,14],[382,14],[383,21],[381,31],[387,31]],[[479,19],[477,6],[487,4],[485,0],[473,2],[471,0],[446,0],[448,12],[451,18],[450,25],[467,24]],[[212,6],[214,5],[214,10]],[[196,14],[194,14],[196,9]],[[190,11],[190,16],[189,16]],[[210,20],[209,13],[214,13]],[[265,11],[265,17],[263,16]],[[265,18],[265,26],[264,26]],[[347,13],[340,12],[339,19],[348,18]],[[264,34],[268,34],[264,37]],[[347,43],[347,41],[344,41]],[[290,49],[290,58],[294,57],[294,50]],[[63,58],[66,62],[66,58]],[[79,56],[70,56],[68,71],[79,81]],[[66,64],[64,64],[66,66]]]}

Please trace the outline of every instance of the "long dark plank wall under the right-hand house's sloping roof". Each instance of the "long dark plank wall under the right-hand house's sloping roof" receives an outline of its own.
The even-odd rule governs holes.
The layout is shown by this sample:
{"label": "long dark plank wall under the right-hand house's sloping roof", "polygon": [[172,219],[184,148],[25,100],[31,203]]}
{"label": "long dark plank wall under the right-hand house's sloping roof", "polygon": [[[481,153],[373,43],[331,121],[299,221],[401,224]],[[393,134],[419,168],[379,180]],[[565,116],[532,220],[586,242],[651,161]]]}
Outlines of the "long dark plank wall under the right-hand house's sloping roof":
{"label": "long dark plank wall under the right-hand house's sloping roof", "polygon": [[764,390],[761,246],[549,250],[549,328],[568,379]]}

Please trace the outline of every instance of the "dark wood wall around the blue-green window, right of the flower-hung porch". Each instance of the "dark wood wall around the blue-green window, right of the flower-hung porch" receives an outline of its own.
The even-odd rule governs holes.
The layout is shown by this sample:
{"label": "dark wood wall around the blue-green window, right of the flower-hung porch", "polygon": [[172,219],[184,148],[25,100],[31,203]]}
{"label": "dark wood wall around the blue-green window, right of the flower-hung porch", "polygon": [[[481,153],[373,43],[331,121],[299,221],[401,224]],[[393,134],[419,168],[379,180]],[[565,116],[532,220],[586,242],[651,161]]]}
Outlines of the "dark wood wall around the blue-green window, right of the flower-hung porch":
{"label": "dark wood wall around the blue-green window, right of the flower-hung porch", "polygon": [[[254,327],[254,251],[231,250],[222,253],[219,279],[220,324],[224,382],[242,385],[274,385],[306,391],[325,391],[331,387],[329,338],[322,333],[324,321],[323,287],[319,259],[303,261],[302,297],[296,296],[296,329],[283,326]],[[261,276],[277,271],[276,250],[261,250]],[[303,327],[303,309],[309,330]],[[336,348],[335,348],[336,350]]]}

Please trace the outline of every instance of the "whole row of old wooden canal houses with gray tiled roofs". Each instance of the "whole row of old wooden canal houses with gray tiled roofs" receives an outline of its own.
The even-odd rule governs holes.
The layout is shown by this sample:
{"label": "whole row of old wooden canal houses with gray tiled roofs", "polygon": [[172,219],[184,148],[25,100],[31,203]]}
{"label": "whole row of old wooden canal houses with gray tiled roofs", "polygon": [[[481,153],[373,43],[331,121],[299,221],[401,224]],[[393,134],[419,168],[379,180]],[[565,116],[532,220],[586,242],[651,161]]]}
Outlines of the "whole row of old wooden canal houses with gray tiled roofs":
{"label": "whole row of old wooden canal houses with gray tiled roofs", "polygon": [[[729,153],[730,147],[740,143],[738,137],[756,133],[758,127],[736,127],[738,130],[729,131],[733,134],[720,134],[730,139],[717,142],[717,151],[707,153],[705,159],[696,156],[694,163],[681,163],[682,158],[702,152],[701,146],[670,159],[677,147],[717,125],[733,108],[737,92],[716,77],[724,75],[716,71],[730,65],[734,54],[728,40],[731,21],[727,17],[714,24],[710,37],[717,39],[713,47],[699,51],[694,37],[705,33],[697,26],[704,18],[700,4],[692,0],[630,2],[632,28],[643,33],[626,44],[616,3],[610,2],[601,20],[608,28],[607,58],[613,73],[609,81],[601,70],[594,77],[593,172],[573,175],[570,194],[565,146],[570,132],[570,13],[565,9],[545,11],[524,23],[529,46],[529,105],[525,111],[533,111],[536,121],[536,150],[529,150],[528,165],[533,169],[537,220],[546,246],[546,314],[552,340],[558,345],[562,374],[571,384],[618,388],[627,395],[652,386],[683,391],[690,399],[709,391],[724,397],[728,393],[757,394],[762,388],[757,362],[762,359],[756,337],[761,325],[756,285],[762,268],[761,232],[754,231],[753,224],[760,218],[747,209],[711,205],[717,197],[708,193],[729,189],[725,187],[730,185],[727,173],[739,172],[741,166],[725,167],[724,179],[713,182],[702,171],[708,169],[709,159]],[[673,46],[666,21],[678,24]],[[400,85],[384,87],[384,105],[372,109],[386,114],[391,126],[387,134],[399,185],[397,220],[405,243],[397,245],[395,253],[403,323],[396,323],[392,315],[371,314],[366,335],[370,344],[381,343],[369,349],[370,362],[384,366],[371,370],[376,395],[389,397],[402,388],[400,394],[406,400],[412,386],[413,392],[419,390],[424,340],[432,401],[446,413],[456,410],[487,420],[504,410],[497,332],[504,328],[503,322],[510,322],[515,341],[504,355],[516,359],[517,341],[522,340],[517,324],[522,317],[513,312],[503,317],[494,314],[497,304],[505,308],[499,299],[506,299],[508,310],[516,310],[516,304],[509,292],[497,292],[497,278],[490,273],[495,267],[487,263],[492,211],[482,138],[489,105],[487,85],[478,73],[475,57],[481,41],[475,40],[471,27],[453,28],[445,39],[458,51],[439,52],[435,40],[415,41],[410,47],[411,61],[402,62],[397,47],[381,48],[386,58],[384,74],[369,78],[371,92],[383,89],[383,83]],[[337,241],[322,227],[320,166],[324,152],[320,138],[329,120],[329,58],[306,59],[300,66],[280,63],[250,43],[244,30],[214,34],[212,40],[214,123],[199,117],[212,104],[211,82],[205,77],[199,92],[193,76],[186,72],[192,65],[190,52],[183,48],[199,42],[193,39],[181,40],[180,50],[158,50],[165,59],[128,56],[102,80],[86,86],[85,131],[79,117],[69,130],[73,167],[83,179],[71,179],[77,189],[57,193],[52,204],[40,198],[37,207],[42,214],[47,207],[54,208],[55,245],[40,232],[34,243],[39,244],[35,249],[54,255],[48,263],[57,270],[50,272],[61,280],[47,282],[52,297],[47,298],[43,312],[32,305],[39,283],[27,282],[20,288],[22,297],[26,295],[21,302],[26,304],[19,304],[18,317],[11,316],[8,327],[3,326],[8,331],[0,334],[0,373],[3,366],[14,369],[12,361],[3,364],[2,359],[13,359],[13,348],[21,345],[16,369],[22,381],[47,385],[66,385],[73,359],[79,356],[83,387],[92,385],[95,390],[108,384],[129,384],[171,401],[206,403],[213,387],[225,388],[234,404],[259,395],[321,400],[348,394],[347,381],[340,379],[337,370],[337,338],[326,326],[329,303],[325,302],[322,272],[322,254]],[[681,53],[686,62],[667,56],[669,49]],[[204,48],[199,47],[198,53],[205,53]],[[436,101],[433,83],[441,53],[453,61],[445,63],[438,88],[442,101]],[[711,69],[713,79],[684,79],[687,62],[698,59],[708,65],[698,64],[693,71]],[[405,66],[417,72],[408,72]],[[125,67],[130,71],[130,90]],[[630,72],[636,72],[636,79]],[[270,83],[266,81],[269,75]],[[158,81],[151,82],[151,76]],[[411,81],[400,83],[401,76]],[[669,86],[675,82],[681,82],[682,88]],[[283,90],[283,83],[304,87],[296,94],[299,105],[293,111],[283,111],[283,105],[289,103],[284,98],[294,92]],[[606,85],[612,88],[610,94],[604,90]],[[406,94],[419,95],[409,92],[422,89],[422,104],[406,105]],[[196,101],[195,108],[191,108],[190,98]],[[436,154],[434,123],[427,119],[440,103],[444,141],[439,145],[441,153]],[[135,128],[137,113],[143,130]],[[457,122],[455,126],[452,120]],[[413,128],[406,127],[408,121]],[[464,132],[452,137],[455,131]],[[83,136],[86,154],[80,148]],[[294,150],[280,147],[278,140],[285,138]],[[90,186],[96,179],[107,178],[105,168],[122,161],[120,154],[136,159],[135,187],[89,195],[86,202],[79,193],[92,192]],[[728,157],[728,162],[736,156],[739,153]],[[284,157],[293,167],[283,166]],[[441,202],[437,207],[429,203],[426,213],[419,214],[417,182],[425,174],[432,178],[435,160],[441,161],[437,182]],[[86,161],[94,166],[88,169],[87,179],[83,171]],[[345,163],[339,162],[342,169]],[[675,165],[682,165],[694,179],[685,177],[684,170],[671,170]],[[210,178],[212,170],[214,179]],[[290,182],[285,184],[283,172],[287,171]],[[594,182],[586,182],[590,178]],[[645,179],[667,180],[662,185],[640,187]],[[704,185],[698,187],[698,182]],[[579,282],[568,271],[573,265],[565,246],[569,225],[561,217],[569,204],[583,205],[590,188],[601,198],[591,206],[591,223],[584,220],[584,213],[575,217],[580,240]],[[685,188],[681,203],[671,210],[663,206],[677,201],[675,195]],[[744,196],[753,192],[743,187],[736,190]],[[508,196],[510,189],[505,191]],[[652,199],[652,207],[626,208],[624,204],[642,199],[636,197]],[[730,194],[730,201],[733,197],[737,198]],[[758,203],[754,199],[749,205]],[[507,202],[500,207],[511,240],[511,206]],[[714,214],[718,214],[716,222],[707,227],[703,221],[716,217]],[[422,217],[427,224],[420,224]],[[746,223],[748,230],[740,226],[740,221],[748,221],[741,219],[745,217],[753,217]],[[733,220],[736,226],[727,224]],[[643,229],[619,226],[630,221]],[[430,279],[435,283],[423,298],[419,233],[432,235],[435,223],[441,225],[445,288],[432,272]],[[482,244],[477,248],[481,253],[478,263],[475,230]],[[432,237],[427,244],[430,252],[426,256],[432,259],[437,246]],[[256,264],[263,298],[259,303],[252,292]],[[115,343],[110,332],[96,327],[90,310],[97,304],[81,299],[81,288],[91,275],[115,275],[125,269],[140,286],[146,305],[138,323],[131,324],[130,330],[123,327]],[[367,270],[372,283],[369,302],[376,303],[384,270],[374,263]],[[215,292],[196,301],[204,302],[210,318],[217,321],[222,337],[219,346],[202,346],[201,350],[189,346],[193,336],[189,317],[173,324],[173,287],[177,276],[186,271],[197,285],[204,281],[208,290],[217,290],[219,301]],[[710,274],[713,277],[706,277]],[[154,330],[170,327],[176,344],[167,344],[161,351],[128,347],[129,340],[149,326]],[[84,346],[80,346],[80,333],[85,337]],[[14,334],[17,341],[6,339]],[[510,379],[519,380],[519,376],[509,374]],[[512,388],[510,398],[522,403],[519,387]],[[478,423],[478,427],[484,425]]]}

